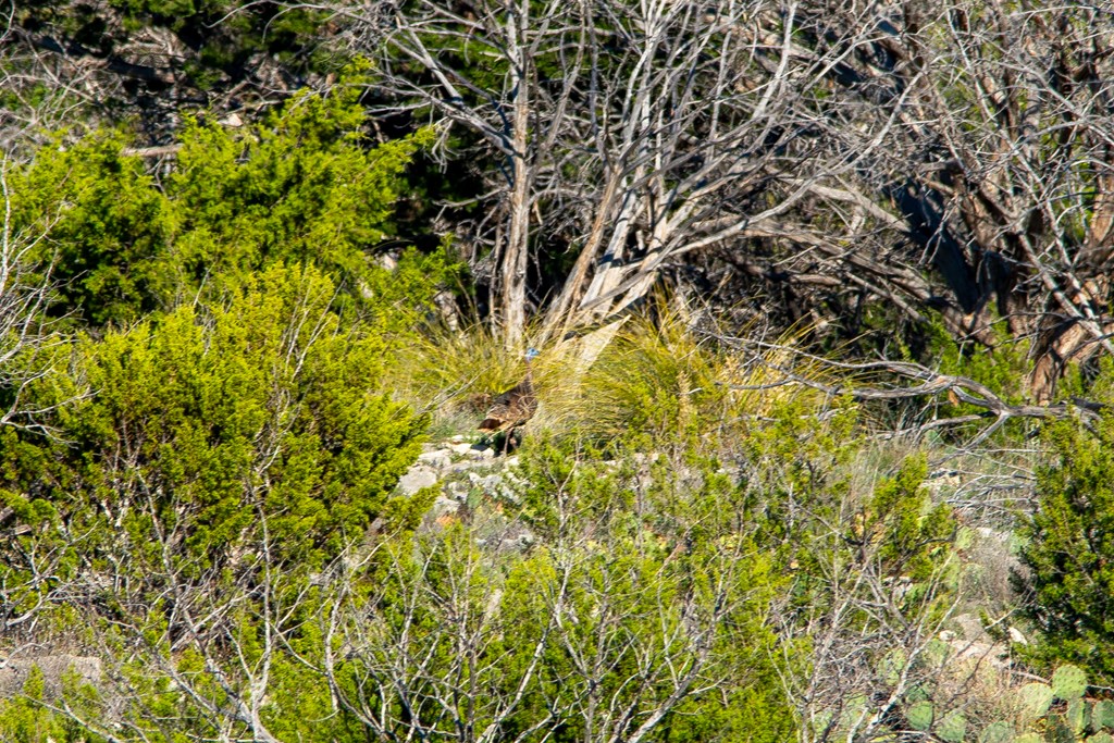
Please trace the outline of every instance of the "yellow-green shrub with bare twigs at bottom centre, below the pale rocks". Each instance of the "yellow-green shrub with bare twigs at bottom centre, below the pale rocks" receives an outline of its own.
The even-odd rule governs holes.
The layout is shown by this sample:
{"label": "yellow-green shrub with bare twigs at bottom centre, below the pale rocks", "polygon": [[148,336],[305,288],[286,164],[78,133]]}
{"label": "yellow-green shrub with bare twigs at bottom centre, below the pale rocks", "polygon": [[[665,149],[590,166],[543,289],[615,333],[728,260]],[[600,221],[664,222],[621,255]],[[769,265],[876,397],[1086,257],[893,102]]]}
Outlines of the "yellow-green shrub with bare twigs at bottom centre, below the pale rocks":
{"label": "yellow-green shrub with bare twigs at bottom centre, below the pale rocks", "polygon": [[[342,693],[430,658],[411,706],[430,711],[431,727],[456,725],[457,715],[482,726],[521,688],[508,737],[550,711],[556,741],[598,740],[603,726],[626,737],[663,708],[646,740],[791,739],[779,673],[795,658],[766,622],[784,577],[715,462],[614,462],[546,438],[524,452],[516,482],[502,506],[521,509],[536,547],[485,548],[478,529],[461,525],[381,551],[368,576],[378,610],[364,636],[374,639],[349,664]],[[475,659],[472,637],[482,647]],[[701,683],[678,690],[693,668]],[[416,703],[440,690],[473,696],[450,718]]]}

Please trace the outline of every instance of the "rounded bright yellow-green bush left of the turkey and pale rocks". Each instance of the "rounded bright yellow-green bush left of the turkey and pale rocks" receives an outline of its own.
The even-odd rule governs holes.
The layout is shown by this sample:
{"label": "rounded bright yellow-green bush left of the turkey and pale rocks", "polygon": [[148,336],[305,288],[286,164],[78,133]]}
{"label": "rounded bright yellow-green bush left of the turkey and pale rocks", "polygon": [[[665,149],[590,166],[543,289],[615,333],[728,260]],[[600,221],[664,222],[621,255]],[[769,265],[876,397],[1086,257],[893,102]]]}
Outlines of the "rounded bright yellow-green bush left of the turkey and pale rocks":
{"label": "rounded bright yellow-green bush left of the turkey and pale rocks", "polygon": [[378,391],[384,342],[334,293],[274,267],[221,304],[85,340],[94,393],[61,440],[0,439],[6,501],[62,544],[84,535],[75,560],[128,555],[137,577],[234,568],[261,540],[302,569],[331,558],[383,514],[423,426]]}

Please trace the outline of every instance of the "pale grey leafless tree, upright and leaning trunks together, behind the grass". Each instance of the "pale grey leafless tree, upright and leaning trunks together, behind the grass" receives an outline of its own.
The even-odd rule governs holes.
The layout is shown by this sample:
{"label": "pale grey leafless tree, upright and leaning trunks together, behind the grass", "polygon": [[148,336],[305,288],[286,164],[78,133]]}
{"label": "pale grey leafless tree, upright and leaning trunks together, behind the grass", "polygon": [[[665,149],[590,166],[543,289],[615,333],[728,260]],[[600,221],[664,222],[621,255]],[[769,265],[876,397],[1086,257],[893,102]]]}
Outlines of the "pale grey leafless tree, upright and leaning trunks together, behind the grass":
{"label": "pale grey leafless tree, upright and leaning trunks together, behind the grass", "polygon": [[[774,206],[747,207],[815,147],[793,144],[802,121],[791,102],[821,81],[824,66],[801,69],[788,49],[776,51],[792,33],[792,9],[771,38],[762,23],[778,7],[763,3],[713,12],[694,2],[339,12],[369,28],[389,25],[371,36],[384,52],[382,86],[399,107],[431,107],[505,158],[492,192],[501,198],[478,237],[491,245],[511,343],[526,320],[528,257],[547,233],[566,235],[578,253],[550,302],[554,330],[628,306],[667,258],[742,236],[808,193],[791,184]],[[750,79],[764,74],[762,84]]]}

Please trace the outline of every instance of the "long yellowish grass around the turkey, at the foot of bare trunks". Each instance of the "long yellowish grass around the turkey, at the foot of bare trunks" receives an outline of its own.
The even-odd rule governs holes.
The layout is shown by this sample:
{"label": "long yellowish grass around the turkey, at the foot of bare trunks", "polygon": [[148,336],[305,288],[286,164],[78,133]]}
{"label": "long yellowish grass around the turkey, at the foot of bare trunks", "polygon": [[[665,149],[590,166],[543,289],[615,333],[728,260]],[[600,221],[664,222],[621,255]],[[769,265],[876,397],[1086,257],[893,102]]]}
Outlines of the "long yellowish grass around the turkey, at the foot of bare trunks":
{"label": "long yellowish grass around the turkey, at the foot of bare trunks", "polygon": [[[541,335],[535,330],[527,338]],[[661,303],[644,315],[537,344],[540,404],[528,431],[604,442],[632,433],[657,441],[700,437],[719,446],[789,405],[819,413],[831,401],[799,381],[825,381],[825,372],[794,351],[800,335],[740,348],[696,329],[684,309]],[[436,434],[466,432],[491,395],[522,380],[524,355],[525,348],[508,350],[483,325],[437,329],[408,346],[391,381],[400,397],[433,413]]]}

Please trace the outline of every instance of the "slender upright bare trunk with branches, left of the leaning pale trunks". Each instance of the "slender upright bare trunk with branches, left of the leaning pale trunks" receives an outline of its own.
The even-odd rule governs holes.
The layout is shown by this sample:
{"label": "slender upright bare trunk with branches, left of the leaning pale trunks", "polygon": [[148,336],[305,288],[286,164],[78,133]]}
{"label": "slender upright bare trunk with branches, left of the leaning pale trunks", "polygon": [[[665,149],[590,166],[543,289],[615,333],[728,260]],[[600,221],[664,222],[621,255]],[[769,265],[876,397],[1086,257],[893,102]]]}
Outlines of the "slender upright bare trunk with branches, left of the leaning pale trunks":
{"label": "slender upright bare trunk with branches, left of the leaning pale trunks", "polygon": [[[336,8],[354,22],[354,47],[379,59],[388,113],[431,108],[434,120],[468,127],[494,154],[492,211],[473,237],[491,251],[495,316],[511,346],[526,326],[537,221],[551,222],[550,209],[579,198],[561,173],[579,167],[567,141],[590,71],[585,10],[526,0]],[[449,126],[442,134],[451,136]]]}

